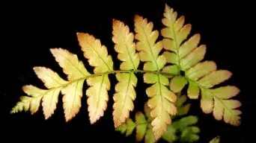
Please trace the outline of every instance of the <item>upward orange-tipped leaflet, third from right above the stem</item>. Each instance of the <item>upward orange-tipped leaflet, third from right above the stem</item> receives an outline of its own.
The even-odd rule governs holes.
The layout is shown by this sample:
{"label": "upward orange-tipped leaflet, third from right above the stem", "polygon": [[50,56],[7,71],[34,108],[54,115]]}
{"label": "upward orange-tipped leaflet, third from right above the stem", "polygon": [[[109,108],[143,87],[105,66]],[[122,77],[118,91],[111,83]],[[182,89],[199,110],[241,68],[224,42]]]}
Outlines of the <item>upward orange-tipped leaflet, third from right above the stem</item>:
{"label": "upward orange-tipped leaflet, third from right above the stem", "polygon": [[137,69],[139,64],[138,54],[135,52],[134,36],[129,32],[129,27],[123,22],[113,20],[113,42],[115,51],[118,52],[118,59],[123,61],[120,69]]}

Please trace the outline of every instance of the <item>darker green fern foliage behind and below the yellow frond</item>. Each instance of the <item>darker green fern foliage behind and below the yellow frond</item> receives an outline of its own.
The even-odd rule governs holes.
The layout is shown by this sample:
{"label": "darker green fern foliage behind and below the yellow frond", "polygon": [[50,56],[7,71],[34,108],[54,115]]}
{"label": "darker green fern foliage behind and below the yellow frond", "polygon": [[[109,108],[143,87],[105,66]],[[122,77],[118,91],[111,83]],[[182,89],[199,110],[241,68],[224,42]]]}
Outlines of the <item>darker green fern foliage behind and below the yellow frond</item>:
{"label": "darker green fern foliage behind and below the yellow frond", "polygon": [[[167,142],[197,142],[199,139],[198,133],[200,130],[195,126],[198,122],[198,118],[193,115],[183,116],[189,112],[190,107],[190,104],[185,104],[186,99],[186,95],[177,98],[176,106],[180,114],[171,115],[173,123],[168,125],[168,129],[162,136],[162,139]],[[142,139],[144,139],[144,142],[157,142],[158,140],[155,139],[153,134],[153,126],[151,125],[152,117],[150,116],[150,107],[148,107],[147,102],[144,104],[144,112],[145,115],[142,112],[136,112],[135,114],[136,142],[141,142]],[[127,120],[118,127],[118,131],[124,134],[127,129],[127,124],[131,123],[131,119]]]}

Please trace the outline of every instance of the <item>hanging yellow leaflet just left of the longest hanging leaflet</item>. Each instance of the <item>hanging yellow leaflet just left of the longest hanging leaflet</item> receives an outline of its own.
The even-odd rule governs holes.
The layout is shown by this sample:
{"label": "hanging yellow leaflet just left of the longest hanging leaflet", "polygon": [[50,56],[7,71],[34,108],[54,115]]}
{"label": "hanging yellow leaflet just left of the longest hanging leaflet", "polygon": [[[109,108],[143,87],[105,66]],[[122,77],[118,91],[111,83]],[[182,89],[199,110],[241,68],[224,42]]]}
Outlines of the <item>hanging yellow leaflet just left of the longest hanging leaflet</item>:
{"label": "hanging yellow leaflet just left of the longest hanging leaflet", "polygon": [[137,77],[133,73],[119,73],[116,77],[119,83],[115,86],[113,118],[115,127],[118,127],[129,117],[129,111],[134,109],[132,101],[136,97],[134,86]]}

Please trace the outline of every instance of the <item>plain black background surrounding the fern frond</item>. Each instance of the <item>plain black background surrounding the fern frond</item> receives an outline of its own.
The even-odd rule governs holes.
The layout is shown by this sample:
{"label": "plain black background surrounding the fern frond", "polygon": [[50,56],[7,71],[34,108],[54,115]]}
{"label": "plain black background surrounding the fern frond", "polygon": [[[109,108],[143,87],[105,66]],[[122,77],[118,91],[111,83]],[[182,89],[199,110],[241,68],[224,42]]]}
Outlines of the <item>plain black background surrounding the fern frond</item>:
{"label": "plain black background surrounding the fern frond", "polygon": [[[233,72],[231,80],[225,84],[241,89],[237,96],[243,106],[242,124],[232,127],[224,121],[216,121],[213,115],[205,115],[198,101],[192,101],[192,115],[198,115],[201,128],[199,142],[208,142],[215,136],[221,136],[222,142],[252,142],[249,133],[255,127],[255,93],[252,88],[254,73],[254,53],[252,37],[255,26],[252,25],[252,4],[246,1],[84,1],[84,3],[1,4],[1,133],[4,142],[135,142],[134,134],[126,138],[114,129],[112,121],[112,89],[109,92],[109,107],[105,115],[91,125],[85,95],[78,115],[69,123],[64,121],[61,96],[55,114],[45,121],[40,107],[30,115],[20,112],[10,115],[10,109],[23,95],[21,87],[33,84],[43,88],[43,83],[34,74],[34,66],[46,66],[58,71],[65,77],[61,68],[49,52],[49,48],[65,48],[77,54],[86,67],[85,58],[79,48],[76,32],[93,34],[106,45],[109,54],[116,59],[113,51],[112,20],[119,19],[129,25],[133,31],[135,14],[144,16],[154,23],[154,29],[162,28],[162,13],[167,3],[174,7],[179,15],[186,16],[186,23],[192,24],[192,34],[201,34],[201,43],[207,45],[205,60],[214,60],[218,69]],[[191,36],[191,35],[190,35]],[[118,69],[118,60],[115,60]],[[141,75],[138,79],[142,80]],[[144,88],[138,82],[135,111],[142,110],[147,100]],[[87,86],[85,85],[85,88]],[[134,112],[131,113],[132,118]]]}

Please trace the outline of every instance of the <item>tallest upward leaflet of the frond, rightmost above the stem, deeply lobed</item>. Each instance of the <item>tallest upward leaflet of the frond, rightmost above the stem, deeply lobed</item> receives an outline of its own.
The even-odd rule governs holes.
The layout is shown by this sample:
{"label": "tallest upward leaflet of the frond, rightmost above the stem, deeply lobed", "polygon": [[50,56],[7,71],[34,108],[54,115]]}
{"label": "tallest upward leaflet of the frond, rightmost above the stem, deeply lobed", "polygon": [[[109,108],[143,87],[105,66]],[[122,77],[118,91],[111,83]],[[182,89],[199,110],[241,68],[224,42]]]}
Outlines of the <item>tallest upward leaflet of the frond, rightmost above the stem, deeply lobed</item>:
{"label": "tallest upward leaflet of the frond, rightmost above the stem, deeply lobed", "polygon": [[[197,48],[200,40],[199,34],[195,34],[186,41],[191,31],[191,25],[184,25],[184,22],[184,16],[177,18],[177,12],[165,5],[164,18],[162,19],[162,24],[165,25],[165,28],[162,28],[161,34],[165,37],[162,40],[163,48],[168,51],[165,51],[164,55],[168,63],[174,63],[181,70],[186,71],[203,60],[206,46],[200,45]],[[181,45],[182,42],[183,44]]]}

